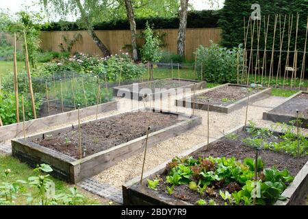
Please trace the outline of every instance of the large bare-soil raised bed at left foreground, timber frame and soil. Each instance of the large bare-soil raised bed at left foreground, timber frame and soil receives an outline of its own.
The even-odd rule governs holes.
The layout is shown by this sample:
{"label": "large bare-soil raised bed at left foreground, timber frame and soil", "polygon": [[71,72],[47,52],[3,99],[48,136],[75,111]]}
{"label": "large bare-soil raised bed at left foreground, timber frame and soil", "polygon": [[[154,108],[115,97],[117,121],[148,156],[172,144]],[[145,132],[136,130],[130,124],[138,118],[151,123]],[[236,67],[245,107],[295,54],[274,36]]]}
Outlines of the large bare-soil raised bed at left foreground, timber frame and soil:
{"label": "large bare-soil raised bed at left foreground, timber frame and soil", "polygon": [[198,116],[149,108],[132,110],[81,123],[81,159],[77,125],[40,133],[27,140],[12,140],[12,155],[30,166],[50,164],[55,177],[77,183],[142,152],[150,119],[149,147],[201,124]]}

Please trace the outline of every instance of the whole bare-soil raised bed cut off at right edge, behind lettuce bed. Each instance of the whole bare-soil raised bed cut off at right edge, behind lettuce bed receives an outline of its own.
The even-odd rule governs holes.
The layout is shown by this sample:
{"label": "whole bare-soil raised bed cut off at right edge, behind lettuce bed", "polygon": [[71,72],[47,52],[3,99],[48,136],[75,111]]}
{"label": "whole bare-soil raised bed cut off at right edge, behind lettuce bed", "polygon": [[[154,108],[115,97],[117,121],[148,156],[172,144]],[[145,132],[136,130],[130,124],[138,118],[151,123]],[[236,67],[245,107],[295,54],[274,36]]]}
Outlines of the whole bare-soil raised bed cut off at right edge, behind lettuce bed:
{"label": "whole bare-soil raised bed cut off at right edge, behind lettuce bed", "polygon": [[275,123],[289,123],[296,120],[296,110],[302,122],[301,127],[308,129],[308,92],[300,91],[290,96],[270,112],[264,112],[263,119]]}

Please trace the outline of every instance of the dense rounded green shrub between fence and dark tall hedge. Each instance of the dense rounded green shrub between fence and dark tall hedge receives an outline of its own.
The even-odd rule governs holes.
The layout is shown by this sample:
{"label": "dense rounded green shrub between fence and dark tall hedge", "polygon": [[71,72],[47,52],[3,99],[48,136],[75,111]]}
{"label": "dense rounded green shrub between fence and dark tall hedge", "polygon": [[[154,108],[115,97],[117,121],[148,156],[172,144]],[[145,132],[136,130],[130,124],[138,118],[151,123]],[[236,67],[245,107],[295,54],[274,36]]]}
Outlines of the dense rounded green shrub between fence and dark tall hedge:
{"label": "dense rounded green shrub between fence and dark tall hedge", "polygon": [[[201,64],[203,64],[203,79],[215,83],[235,83],[237,81],[238,53],[239,64],[242,63],[242,47],[227,49],[218,44],[211,44],[211,47],[200,45],[197,53],[197,73],[201,77]],[[242,68],[240,67],[240,70]],[[240,73],[241,74],[241,73]]]}

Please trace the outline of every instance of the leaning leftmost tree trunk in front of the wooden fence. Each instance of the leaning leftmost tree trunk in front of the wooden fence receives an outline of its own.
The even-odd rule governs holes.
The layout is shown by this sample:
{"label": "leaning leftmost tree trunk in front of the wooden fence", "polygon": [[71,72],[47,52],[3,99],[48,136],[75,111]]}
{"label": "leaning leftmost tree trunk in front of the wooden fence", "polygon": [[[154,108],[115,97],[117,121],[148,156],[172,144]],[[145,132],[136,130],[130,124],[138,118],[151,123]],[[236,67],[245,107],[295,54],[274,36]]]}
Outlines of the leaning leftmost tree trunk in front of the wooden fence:
{"label": "leaning leftmost tree trunk in front of the wooden fence", "polygon": [[75,2],[77,4],[77,7],[79,8],[79,11],[80,11],[80,14],[81,14],[81,20],[84,20],[84,22],[86,23],[88,33],[92,37],[93,41],[95,42],[95,44],[97,44],[97,47],[99,47],[99,49],[101,50],[101,52],[103,53],[104,56],[110,55],[110,51],[107,49],[105,44],[103,44],[103,42],[101,42],[101,40],[99,39],[97,34],[95,34],[92,25],[88,21],[88,16],[86,14],[86,11],[82,7],[80,0],[75,0]]}

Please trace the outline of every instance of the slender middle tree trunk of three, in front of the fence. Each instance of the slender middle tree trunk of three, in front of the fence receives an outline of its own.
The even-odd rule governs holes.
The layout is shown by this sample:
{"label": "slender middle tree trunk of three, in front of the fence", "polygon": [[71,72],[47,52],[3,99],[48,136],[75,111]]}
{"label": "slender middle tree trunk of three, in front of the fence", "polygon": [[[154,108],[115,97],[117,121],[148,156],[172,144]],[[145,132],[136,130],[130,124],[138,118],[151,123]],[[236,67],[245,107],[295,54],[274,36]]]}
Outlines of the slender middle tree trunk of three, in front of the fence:
{"label": "slender middle tree trunk of three, in front of the fence", "polygon": [[136,22],[133,14],[133,5],[131,0],[125,0],[125,8],[127,12],[127,18],[129,20],[129,26],[131,28],[131,46],[133,47],[133,61],[138,60],[137,43],[136,43]]}

